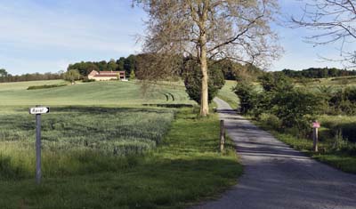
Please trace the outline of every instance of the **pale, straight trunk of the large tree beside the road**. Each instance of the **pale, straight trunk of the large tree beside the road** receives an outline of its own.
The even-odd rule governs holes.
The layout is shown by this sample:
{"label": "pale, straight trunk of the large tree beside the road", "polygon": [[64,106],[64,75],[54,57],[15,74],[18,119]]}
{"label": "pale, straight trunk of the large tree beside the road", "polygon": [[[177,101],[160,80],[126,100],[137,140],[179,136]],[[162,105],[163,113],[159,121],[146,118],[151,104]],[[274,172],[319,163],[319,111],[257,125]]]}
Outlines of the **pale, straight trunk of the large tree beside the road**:
{"label": "pale, straight trunk of the large tree beside the road", "polygon": [[206,117],[209,114],[208,91],[207,91],[207,60],[206,60],[206,35],[201,36],[200,44],[200,68],[203,77],[201,78],[200,95],[200,116]]}

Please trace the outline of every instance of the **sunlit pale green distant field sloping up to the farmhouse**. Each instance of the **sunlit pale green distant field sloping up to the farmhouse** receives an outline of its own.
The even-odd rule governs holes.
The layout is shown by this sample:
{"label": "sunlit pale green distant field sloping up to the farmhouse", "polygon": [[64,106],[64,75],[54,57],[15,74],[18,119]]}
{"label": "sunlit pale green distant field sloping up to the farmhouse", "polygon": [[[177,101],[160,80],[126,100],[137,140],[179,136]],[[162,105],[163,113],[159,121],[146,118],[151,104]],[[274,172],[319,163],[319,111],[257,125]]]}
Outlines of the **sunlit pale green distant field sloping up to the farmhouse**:
{"label": "sunlit pale green distant field sloping up to the farmhouse", "polygon": [[93,82],[51,89],[26,90],[28,86],[61,84],[64,81],[36,81],[0,84],[0,106],[141,106],[142,104],[193,104],[184,87],[151,85],[142,90],[134,82]]}

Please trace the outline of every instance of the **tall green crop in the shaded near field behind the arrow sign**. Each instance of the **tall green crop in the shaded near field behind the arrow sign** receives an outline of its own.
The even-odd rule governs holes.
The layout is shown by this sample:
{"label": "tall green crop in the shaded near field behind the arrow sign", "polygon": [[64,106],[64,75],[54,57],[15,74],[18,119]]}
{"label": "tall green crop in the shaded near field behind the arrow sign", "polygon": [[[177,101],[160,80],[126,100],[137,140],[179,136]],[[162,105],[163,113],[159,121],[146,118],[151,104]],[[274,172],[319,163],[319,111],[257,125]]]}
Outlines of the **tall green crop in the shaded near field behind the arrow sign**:
{"label": "tall green crop in the shaded near field behind the arrow sign", "polygon": [[[25,109],[0,114],[0,175],[25,178],[35,168],[35,120]],[[112,171],[161,141],[174,111],[69,107],[42,117],[44,176]]]}

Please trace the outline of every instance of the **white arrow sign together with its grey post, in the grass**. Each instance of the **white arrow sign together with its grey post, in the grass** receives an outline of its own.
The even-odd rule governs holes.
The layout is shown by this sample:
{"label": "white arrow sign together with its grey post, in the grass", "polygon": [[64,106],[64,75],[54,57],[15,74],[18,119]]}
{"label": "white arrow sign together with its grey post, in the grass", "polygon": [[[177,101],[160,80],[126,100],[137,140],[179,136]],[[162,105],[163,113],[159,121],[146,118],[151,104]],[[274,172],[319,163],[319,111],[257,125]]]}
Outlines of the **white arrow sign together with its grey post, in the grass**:
{"label": "white arrow sign together with its grey post, in the grass", "polygon": [[41,183],[41,114],[49,113],[50,108],[41,107],[29,109],[29,114],[36,115],[36,182]]}

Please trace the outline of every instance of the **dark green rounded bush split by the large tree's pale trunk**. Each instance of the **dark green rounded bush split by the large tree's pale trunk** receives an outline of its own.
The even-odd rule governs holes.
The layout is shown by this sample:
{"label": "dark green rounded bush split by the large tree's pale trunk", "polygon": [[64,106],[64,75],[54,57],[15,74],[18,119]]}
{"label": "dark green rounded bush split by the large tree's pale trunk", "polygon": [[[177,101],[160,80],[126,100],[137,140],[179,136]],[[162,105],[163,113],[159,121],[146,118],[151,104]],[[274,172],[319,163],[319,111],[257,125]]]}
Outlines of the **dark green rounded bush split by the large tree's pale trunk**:
{"label": "dark green rounded bush split by the large tree's pale trunk", "polygon": [[[195,100],[198,104],[200,104],[202,78],[200,67],[194,60],[189,60],[185,65],[184,71],[184,84],[186,92],[190,96],[191,100]],[[208,76],[208,101],[210,103],[216,96],[217,92],[223,88],[225,80],[223,78],[222,70],[214,65],[209,67]]]}

